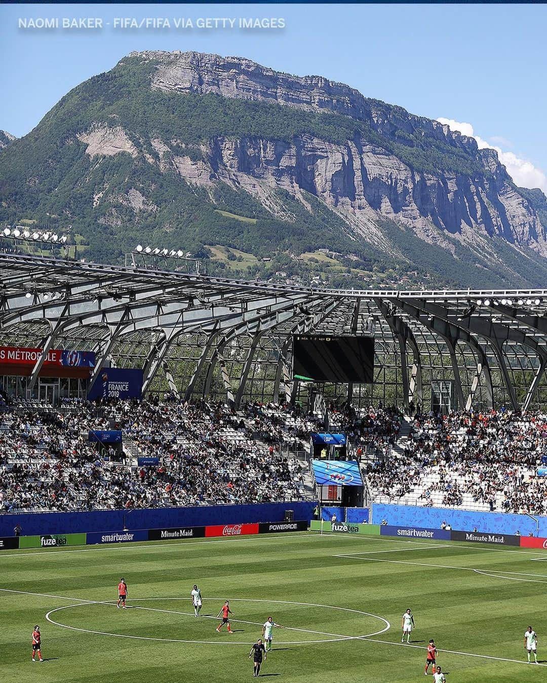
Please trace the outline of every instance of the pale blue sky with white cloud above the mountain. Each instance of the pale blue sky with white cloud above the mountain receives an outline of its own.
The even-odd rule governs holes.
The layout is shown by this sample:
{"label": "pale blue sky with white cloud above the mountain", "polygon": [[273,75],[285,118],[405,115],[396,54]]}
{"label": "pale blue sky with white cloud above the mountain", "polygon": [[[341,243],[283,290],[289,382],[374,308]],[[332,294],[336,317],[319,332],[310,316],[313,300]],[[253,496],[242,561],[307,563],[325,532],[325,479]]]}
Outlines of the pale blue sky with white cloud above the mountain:
{"label": "pale blue sky with white cloud above the mountain", "polygon": [[[18,28],[20,17],[55,16],[111,25]],[[286,27],[113,29],[115,17],[249,16],[282,17]],[[547,191],[546,29],[547,5],[1,5],[0,128],[25,135],[70,88],[130,51],[214,52],[471,124],[483,144],[503,150],[516,180],[539,179]]]}

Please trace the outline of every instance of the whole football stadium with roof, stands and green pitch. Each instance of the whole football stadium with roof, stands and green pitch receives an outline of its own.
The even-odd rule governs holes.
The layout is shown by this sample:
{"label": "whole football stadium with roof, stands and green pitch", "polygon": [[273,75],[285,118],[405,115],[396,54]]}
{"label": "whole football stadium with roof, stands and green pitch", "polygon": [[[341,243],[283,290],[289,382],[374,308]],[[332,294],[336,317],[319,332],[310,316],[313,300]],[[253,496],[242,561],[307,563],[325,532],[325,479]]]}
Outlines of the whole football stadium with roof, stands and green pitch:
{"label": "whole football stadium with roof, stands and green pitch", "polygon": [[547,290],[148,249],[0,252],[3,680],[36,680],[36,623],[44,680],[240,680],[270,615],[279,680],[406,681],[430,639],[453,680],[541,680]]}

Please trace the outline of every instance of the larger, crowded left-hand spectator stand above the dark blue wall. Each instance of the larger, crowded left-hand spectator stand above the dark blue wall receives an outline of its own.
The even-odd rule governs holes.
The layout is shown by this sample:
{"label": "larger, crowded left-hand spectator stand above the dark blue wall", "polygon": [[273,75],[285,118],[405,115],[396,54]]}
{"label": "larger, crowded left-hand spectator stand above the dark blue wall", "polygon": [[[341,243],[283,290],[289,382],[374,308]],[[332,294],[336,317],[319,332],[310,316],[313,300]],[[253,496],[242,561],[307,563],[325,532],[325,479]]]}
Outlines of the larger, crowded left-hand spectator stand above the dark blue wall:
{"label": "larger, crowded left-hand spectator stand above the dark blue wall", "polygon": [[[139,456],[105,460],[89,430],[121,429]],[[0,417],[3,512],[101,510],[303,498],[296,458],[270,454],[221,404],[115,402]]]}

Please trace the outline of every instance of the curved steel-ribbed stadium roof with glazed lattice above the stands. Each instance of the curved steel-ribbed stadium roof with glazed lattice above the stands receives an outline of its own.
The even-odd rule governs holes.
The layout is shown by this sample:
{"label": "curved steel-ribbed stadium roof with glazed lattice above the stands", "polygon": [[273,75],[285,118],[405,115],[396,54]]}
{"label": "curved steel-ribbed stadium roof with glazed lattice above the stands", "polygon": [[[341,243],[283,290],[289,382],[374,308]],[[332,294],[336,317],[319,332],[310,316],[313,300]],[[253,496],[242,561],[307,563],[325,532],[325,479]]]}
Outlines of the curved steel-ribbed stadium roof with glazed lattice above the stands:
{"label": "curved steel-ribbed stadium roof with glazed lattice above the stands", "polygon": [[110,360],[142,367],[145,391],[167,375],[189,397],[218,376],[237,404],[262,376],[277,399],[294,333],[374,334],[391,389],[371,397],[422,402],[445,380],[460,408],[547,402],[547,290],[334,290],[10,252],[0,273],[0,344],[94,350],[92,382]]}

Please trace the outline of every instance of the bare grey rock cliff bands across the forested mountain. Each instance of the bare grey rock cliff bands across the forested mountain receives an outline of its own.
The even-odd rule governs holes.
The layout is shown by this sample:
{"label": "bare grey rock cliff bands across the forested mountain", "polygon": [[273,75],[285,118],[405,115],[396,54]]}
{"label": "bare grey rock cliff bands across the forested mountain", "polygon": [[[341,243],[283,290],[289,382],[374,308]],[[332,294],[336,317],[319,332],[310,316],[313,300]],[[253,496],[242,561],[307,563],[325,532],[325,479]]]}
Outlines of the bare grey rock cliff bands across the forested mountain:
{"label": "bare grey rock cliff bands across the forested mountain", "polygon": [[[219,137],[210,141],[206,161],[199,169],[190,160],[178,160],[176,169],[188,182],[223,180],[241,186],[266,206],[275,187],[289,191],[300,201],[305,201],[303,190],[311,192],[378,247],[387,245],[375,227],[378,216],[383,216],[401,221],[421,239],[446,249],[453,249],[446,234],[479,251],[495,235],[547,255],[546,226],[515,189],[496,152],[478,150],[475,139],[446,125],[365,98],[347,85],[322,76],[291,76],[249,59],[194,52],[144,52],[129,57],[154,63],[152,89],[212,93],[303,111],[332,111],[368,122],[388,139],[418,133],[443,141],[456,152],[475,156],[488,172],[476,177],[417,172],[394,154],[363,139],[333,145],[307,135],[290,144]],[[168,147],[167,141],[165,145]],[[284,214],[283,208],[270,208],[277,216]]]}

